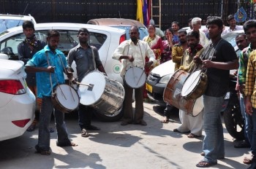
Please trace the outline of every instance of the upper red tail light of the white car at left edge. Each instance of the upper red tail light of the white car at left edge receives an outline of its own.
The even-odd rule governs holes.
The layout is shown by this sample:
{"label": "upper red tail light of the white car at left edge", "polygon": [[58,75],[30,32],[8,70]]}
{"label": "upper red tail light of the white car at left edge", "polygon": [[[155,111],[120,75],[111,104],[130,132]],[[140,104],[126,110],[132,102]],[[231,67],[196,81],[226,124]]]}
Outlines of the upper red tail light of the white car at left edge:
{"label": "upper red tail light of the white car at left edge", "polygon": [[26,90],[19,80],[0,80],[0,92],[20,95],[26,93]]}

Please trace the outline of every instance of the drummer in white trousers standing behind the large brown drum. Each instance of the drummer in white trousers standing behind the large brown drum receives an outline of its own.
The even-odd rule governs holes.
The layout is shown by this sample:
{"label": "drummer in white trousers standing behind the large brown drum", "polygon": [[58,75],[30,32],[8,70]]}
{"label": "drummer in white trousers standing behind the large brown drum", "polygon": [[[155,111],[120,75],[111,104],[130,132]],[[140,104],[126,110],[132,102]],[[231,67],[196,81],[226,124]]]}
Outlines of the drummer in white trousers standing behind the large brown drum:
{"label": "drummer in white trousers standing behind the large brown drum", "polygon": [[[200,34],[197,31],[191,31],[187,34],[187,43],[189,48],[185,50],[181,58],[181,66],[179,69],[192,73],[195,68],[195,63],[193,58],[195,55],[200,55],[203,52],[203,46],[199,44]],[[202,135],[203,130],[203,113],[197,115],[197,117],[192,117],[187,114],[187,112],[179,110],[179,118],[181,120],[181,125],[174,129],[174,132],[187,133],[190,131],[188,138],[197,138]]]}

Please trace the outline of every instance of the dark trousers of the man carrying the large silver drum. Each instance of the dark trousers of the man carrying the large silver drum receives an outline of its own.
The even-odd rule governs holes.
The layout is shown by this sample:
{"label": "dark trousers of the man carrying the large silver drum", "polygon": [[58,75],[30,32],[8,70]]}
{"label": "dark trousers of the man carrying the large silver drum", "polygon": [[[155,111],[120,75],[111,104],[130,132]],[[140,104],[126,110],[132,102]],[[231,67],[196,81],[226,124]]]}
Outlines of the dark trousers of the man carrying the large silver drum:
{"label": "dark trousers of the man carrying the large silver drum", "polygon": [[79,105],[79,111],[78,111],[78,124],[81,128],[87,128],[91,125],[91,113],[94,111],[89,106],[84,106],[83,104]]}

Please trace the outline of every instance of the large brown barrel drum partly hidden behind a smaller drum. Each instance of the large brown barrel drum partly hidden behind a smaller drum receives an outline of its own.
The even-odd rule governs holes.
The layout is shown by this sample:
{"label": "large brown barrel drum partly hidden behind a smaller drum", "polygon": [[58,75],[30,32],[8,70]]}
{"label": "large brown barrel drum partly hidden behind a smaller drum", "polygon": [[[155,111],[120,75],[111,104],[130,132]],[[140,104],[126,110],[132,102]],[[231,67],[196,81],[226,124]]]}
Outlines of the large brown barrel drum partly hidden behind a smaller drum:
{"label": "large brown barrel drum partly hidden behind a smaller drum", "polygon": [[196,100],[185,100],[181,97],[181,89],[189,73],[183,70],[177,70],[170,78],[164,91],[164,101],[176,108],[186,111],[192,117],[196,117],[203,111],[203,98]]}

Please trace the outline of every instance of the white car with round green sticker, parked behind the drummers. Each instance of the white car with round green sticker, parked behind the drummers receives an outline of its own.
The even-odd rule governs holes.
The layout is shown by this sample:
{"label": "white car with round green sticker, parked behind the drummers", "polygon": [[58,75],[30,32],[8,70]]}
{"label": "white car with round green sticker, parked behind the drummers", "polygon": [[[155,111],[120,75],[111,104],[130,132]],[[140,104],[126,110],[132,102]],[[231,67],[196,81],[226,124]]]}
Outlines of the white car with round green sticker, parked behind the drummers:
{"label": "white car with round green sticker, parked behind the drummers", "polygon": [[[90,44],[99,50],[99,58],[108,74],[109,79],[123,83],[121,76],[121,62],[112,59],[112,54],[118,45],[126,40],[125,31],[103,25],[89,25],[79,23],[38,23],[34,25],[37,39],[46,41],[47,32],[56,29],[61,34],[59,50],[67,56],[70,49],[78,44],[78,30],[87,28],[90,32]],[[0,50],[12,60],[18,60],[18,44],[23,42],[25,35],[21,26],[7,29],[0,34]],[[76,77],[75,62],[72,64],[74,76]],[[116,121],[122,117],[121,109],[113,115],[96,114],[102,120]]]}

